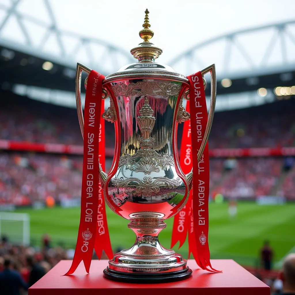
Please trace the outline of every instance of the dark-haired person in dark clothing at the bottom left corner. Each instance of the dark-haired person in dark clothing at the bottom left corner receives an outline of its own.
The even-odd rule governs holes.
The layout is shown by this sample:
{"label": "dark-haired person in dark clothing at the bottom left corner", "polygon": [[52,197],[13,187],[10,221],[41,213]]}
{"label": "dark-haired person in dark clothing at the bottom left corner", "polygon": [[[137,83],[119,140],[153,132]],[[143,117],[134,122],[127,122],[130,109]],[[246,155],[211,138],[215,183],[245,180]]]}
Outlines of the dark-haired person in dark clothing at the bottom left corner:
{"label": "dark-haired person in dark clothing at the bottom left corner", "polygon": [[5,259],[4,270],[0,273],[0,294],[19,295],[21,288],[27,290],[28,286],[19,272],[12,269],[10,259]]}

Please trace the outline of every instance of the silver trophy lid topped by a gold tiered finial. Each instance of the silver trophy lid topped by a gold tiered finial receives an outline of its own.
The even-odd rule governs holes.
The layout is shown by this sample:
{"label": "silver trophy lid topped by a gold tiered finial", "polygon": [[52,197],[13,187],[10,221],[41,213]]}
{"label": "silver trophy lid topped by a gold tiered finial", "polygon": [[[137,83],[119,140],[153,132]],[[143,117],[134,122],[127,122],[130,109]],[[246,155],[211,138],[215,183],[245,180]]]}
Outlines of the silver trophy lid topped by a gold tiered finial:
{"label": "silver trophy lid topped by a gold tiered finial", "polygon": [[155,47],[149,40],[153,37],[154,32],[150,30],[150,22],[148,9],[145,10],[145,20],[142,24],[143,29],[140,30],[139,36],[143,42],[137,47],[130,50],[130,53],[138,60],[137,63],[124,65],[116,73],[105,77],[104,81],[122,80],[122,78],[158,78],[171,79],[180,82],[188,82],[186,76],[176,73],[173,68],[168,65],[155,63],[155,59],[162,54],[163,50]]}

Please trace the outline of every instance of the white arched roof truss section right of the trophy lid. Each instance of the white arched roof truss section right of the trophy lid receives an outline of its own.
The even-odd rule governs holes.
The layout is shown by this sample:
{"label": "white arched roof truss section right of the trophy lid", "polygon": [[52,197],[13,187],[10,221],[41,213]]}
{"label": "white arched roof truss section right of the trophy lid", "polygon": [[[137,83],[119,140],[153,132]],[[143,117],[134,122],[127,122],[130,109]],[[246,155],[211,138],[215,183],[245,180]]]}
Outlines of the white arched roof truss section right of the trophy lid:
{"label": "white arched roof truss section right of the trophy lid", "polygon": [[222,35],[196,44],[169,64],[186,75],[215,63],[219,79],[295,69],[295,20]]}

